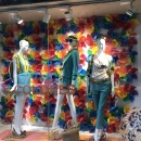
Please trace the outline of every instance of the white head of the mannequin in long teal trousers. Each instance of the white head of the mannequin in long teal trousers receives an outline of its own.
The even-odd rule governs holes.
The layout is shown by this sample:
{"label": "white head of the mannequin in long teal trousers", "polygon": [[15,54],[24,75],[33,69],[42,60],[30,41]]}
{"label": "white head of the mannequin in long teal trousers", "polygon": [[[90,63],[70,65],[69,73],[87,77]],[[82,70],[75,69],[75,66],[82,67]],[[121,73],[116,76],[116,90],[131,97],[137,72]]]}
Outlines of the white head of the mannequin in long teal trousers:
{"label": "white head of the mannequin in long teal trousers", "polygon": [[101,37],[101,38],[97,39],[97,44],[99,48],[99,52],[104,51],[105,50],[105,38]]}

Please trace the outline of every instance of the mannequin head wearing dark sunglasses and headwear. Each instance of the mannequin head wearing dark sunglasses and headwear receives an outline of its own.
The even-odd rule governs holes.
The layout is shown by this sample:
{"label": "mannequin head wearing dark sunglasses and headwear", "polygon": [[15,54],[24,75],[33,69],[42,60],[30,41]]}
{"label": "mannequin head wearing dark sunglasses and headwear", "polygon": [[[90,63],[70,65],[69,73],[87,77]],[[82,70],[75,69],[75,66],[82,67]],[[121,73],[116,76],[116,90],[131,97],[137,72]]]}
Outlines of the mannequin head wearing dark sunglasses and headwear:
{"label": "mannequin head wearing dark sunglasses and headwear", "polygon": [[69,48],[74,48],[78,46],[78,40],[75,36],[68,36],[65,41],[68,43]]}

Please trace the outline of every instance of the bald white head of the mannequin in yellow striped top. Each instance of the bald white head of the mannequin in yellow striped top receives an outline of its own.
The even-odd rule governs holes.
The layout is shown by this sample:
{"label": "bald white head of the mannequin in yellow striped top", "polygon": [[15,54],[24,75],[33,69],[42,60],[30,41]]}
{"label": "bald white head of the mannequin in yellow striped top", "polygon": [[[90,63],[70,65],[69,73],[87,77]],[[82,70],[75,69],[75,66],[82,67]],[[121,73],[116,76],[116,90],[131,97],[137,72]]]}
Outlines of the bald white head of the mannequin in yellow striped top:
{"label": "bald white head of the mannequin in yellow striped top", "polygon": [[26,40],[21,40],[20,41],[20,49],[21,49],[22,53],[27,52],[28,48],[29,48],[29,42],[28,41],[26,41]]}

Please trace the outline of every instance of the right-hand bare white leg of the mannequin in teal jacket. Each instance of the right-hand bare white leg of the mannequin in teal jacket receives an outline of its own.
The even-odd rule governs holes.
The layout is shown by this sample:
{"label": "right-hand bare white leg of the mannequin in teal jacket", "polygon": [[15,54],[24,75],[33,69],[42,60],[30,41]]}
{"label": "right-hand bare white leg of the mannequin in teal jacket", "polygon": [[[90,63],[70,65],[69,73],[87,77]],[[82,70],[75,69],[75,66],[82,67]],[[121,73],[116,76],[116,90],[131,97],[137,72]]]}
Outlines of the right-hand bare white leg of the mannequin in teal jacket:
{"label": "right-hand bare white leg of the mannequin in teal jacket", "polygon": [[77,125],[76,107],[75,107],[73,94],[66,94],[66,98],[67,98],[68,105],[70,107],[70,114],[72,114],[73,120]]}

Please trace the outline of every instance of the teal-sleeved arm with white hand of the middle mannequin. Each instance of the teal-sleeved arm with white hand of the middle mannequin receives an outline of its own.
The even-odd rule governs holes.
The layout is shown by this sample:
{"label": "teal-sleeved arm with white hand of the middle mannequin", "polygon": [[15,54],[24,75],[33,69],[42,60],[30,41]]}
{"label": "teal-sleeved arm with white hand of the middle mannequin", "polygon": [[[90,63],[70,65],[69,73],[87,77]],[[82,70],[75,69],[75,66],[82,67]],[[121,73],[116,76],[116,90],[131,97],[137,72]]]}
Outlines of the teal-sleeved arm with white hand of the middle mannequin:
{"label": "teal-sleeved arm with white hand of the middle mannequin", "polygon": [[78,63],[79,63],[79,54],[77,50],[73,51],[73,74],[72,74],[72,85],[75,85],[75,80],[78,76]]}

